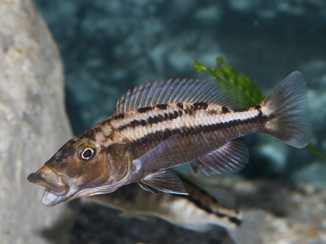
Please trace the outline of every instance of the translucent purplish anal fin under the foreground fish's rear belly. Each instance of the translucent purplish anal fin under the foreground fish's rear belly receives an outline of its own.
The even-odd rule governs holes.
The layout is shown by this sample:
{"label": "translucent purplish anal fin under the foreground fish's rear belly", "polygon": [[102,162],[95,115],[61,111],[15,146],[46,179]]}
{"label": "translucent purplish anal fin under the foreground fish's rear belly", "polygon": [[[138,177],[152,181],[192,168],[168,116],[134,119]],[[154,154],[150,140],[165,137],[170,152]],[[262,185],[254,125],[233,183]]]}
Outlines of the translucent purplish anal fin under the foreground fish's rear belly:
{"label": "translucent purplish anal fin under the foreground fish's rear belly", "polygon": [[209,175],[216,173],[235,173],[244,168],[249,161],[247,146],[241,141],[230,141],[207,155],[192,161],[194,172],[199,168]]}

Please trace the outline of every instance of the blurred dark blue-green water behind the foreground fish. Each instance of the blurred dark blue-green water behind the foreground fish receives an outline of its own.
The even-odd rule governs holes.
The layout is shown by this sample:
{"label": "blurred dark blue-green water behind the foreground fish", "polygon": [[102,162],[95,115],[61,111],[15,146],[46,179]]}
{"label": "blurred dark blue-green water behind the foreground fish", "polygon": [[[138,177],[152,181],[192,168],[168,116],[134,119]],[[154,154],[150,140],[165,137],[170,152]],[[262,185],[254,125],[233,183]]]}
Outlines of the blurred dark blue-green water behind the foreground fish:
{"label": "blurred dark blue-green water behind the foreground fish", "polygon": [[[67,111],[76,134],[112,115],[127,89],[197,74],[198,60],[222,56],[268,94],[295,70],[303,73],[312,143],[326,153],[326,2],[37,0],[66,72]],[[264,135],[244,138],[249,178],[324,185],[325,161]]]}

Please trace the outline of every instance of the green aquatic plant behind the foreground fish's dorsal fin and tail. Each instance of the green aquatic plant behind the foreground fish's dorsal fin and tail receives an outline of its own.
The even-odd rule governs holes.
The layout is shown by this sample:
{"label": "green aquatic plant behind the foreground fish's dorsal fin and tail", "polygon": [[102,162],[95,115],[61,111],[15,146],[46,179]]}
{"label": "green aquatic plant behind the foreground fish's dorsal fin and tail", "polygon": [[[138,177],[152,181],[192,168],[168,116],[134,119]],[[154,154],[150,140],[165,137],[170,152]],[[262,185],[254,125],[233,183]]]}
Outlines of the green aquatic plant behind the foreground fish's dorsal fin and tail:
{"label": "green aquatic plant behind the foreground fish's dorsal fin and tail", "polygon": [[[215,68],[208,68],[198,61],[195,61],[192,66],[197,72],[209,72],[215,79],[223,77],[236,87],[243,90],[248,98],[250,107],[258,105],[266,97],[248,76],[237,73],[230,64],[224,62],[222,57],[217,57]],[[305,149],[323,159],[326,159],[326,155],[311,143],[309,143]]]}

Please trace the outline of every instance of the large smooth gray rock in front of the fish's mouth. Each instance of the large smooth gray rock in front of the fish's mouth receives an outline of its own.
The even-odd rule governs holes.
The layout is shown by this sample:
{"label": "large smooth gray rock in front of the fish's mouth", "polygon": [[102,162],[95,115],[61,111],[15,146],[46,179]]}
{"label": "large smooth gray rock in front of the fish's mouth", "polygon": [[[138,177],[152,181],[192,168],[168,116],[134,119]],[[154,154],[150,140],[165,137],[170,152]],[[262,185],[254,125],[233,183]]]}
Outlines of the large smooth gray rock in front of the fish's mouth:
{"label": "large smooth gray rock in front of the fish's mouth", "polygon": [[71,137],[63,80],[33,1],[0,1],[0,243],[69,240],[67,204],[43,207],[44,189],[26,180]]}

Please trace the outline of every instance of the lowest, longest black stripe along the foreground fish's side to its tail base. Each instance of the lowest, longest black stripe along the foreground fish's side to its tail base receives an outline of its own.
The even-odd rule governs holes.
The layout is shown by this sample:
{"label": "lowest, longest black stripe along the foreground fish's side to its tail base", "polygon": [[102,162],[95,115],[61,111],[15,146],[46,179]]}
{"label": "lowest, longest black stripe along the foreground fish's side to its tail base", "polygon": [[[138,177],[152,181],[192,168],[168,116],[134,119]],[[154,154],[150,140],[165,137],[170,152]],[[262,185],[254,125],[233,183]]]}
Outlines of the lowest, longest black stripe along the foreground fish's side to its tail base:
{"label": "lowest, longest black stripe along the foreground fish's side to its tail base", "polygon": [[255,117],[249,118],[249,119],[245,119],[245,120],[240,120],[240,119],[236,119],[236,120],[231,120],[229,122],[221,122],[221,123],[216,123],[216,124],[212,124],[212,125],[203,125],[203,126],[195,126],[195,127],[182,127],[182,128],[176,128],[176,129],[164,129],[164,130],[159,130],[156,131],[155,133],[149,133],[146,134],[144,136],[142,136],[141,138],[138,138],[138,142],[140,142],[141,144],[145,143],[147,144],[148,142],[151,142],[153,140],[153,138],[156,139],[162,139],[162,140],[166,140],[168,139],[171,135],[173,134],[180,134],[180,135],[195,135],[195,134],[199,134],[200,132],[214,132],[214,131],[218,131],[221,129],[228,129],[228,128],[232,128],[232,127],[236,127],[236,126],[243,126],[243,125],[248,125],[250,128],[253,128],[255,126],[253,126],[253,124],[258,123],[261,124],[261,126],[263,126],[263,124],[267,121],[268,117],[263,115],[261,112],[256,115]]}

